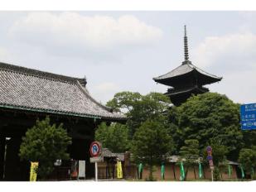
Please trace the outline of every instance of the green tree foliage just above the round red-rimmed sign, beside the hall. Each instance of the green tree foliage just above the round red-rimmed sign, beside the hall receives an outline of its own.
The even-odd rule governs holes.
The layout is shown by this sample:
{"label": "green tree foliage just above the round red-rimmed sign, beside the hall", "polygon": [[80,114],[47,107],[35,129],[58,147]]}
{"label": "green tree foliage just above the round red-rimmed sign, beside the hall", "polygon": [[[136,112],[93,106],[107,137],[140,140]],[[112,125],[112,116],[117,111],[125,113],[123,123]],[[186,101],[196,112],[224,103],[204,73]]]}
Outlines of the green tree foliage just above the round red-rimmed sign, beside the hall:
{"label": "green tree foliage just above the round red-rimmed sign, beside the hall", "polygon": [[123,152],[129,148],[128,127],[117,122],[110,126],[102,122],[96,129],[95,139],[113,152]]}

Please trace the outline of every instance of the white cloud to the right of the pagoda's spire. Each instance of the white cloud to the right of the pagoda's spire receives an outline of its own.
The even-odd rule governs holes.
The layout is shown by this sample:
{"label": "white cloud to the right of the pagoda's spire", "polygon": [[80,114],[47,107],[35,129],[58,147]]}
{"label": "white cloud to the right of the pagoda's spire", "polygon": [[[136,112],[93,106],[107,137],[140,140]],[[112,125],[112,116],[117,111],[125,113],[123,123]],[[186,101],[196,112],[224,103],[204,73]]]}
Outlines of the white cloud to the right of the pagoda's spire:
{"label": "white cloud to the right of the pagoda's spire", "polygon": [[241,69],[242,65],[253,67],[255,63],[252,62],[256,61],[256,35],[246,32],[209,36],[196,47],[192,55],[195,63],[204,67],[222,65],[229,69],[231,67],[231,70]]}

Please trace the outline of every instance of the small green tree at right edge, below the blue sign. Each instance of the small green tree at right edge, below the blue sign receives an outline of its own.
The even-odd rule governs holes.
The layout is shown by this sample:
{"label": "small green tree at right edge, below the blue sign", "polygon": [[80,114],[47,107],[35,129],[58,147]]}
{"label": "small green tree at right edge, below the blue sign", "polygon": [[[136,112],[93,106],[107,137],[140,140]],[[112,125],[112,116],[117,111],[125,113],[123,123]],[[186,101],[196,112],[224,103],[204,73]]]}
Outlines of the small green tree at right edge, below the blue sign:
{"label": "small green tree at right edge, below the blue sign", "polygon": [[239,163],[242,164],[244,171],[253,178],[252,168],[256,166],[256,147],[253,147],[253,149],[241,149],[239,152]]}

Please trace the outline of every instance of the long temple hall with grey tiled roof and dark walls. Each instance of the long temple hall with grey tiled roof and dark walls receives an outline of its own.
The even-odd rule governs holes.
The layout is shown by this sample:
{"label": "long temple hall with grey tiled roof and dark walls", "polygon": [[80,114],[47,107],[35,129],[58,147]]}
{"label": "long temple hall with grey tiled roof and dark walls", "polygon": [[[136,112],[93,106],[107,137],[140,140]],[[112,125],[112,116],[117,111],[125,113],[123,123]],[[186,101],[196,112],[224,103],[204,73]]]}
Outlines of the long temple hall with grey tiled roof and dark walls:
{"label": "long temple hall with grey tiled roof and dark walls", "polygon": [[89,144],[100,122],[125,122],[126,117],[98,103],[78,79],[17,65],[0,63],[0,180],[29,180],[29,162],[18,153],[22,137],[36,119],[63,123],[72,137],[70,158],[86,162],[86,177],[93,177]]}

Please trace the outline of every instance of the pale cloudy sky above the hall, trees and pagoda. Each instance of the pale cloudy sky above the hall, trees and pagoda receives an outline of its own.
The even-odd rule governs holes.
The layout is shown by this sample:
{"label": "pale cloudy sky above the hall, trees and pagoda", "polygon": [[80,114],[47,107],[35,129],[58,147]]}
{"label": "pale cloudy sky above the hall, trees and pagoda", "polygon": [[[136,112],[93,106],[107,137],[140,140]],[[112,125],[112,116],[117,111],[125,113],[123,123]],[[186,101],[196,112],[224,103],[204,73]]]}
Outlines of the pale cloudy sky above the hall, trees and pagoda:
{"label": "pale cloudy sky above the hall, trees and pagoda", "polygon": [[87,79],[101,103],[122,91],[165,93],[152,78],[184,60],[223,77],[206,85],[256,103],[256,12],[0,12],[0,62]]}

